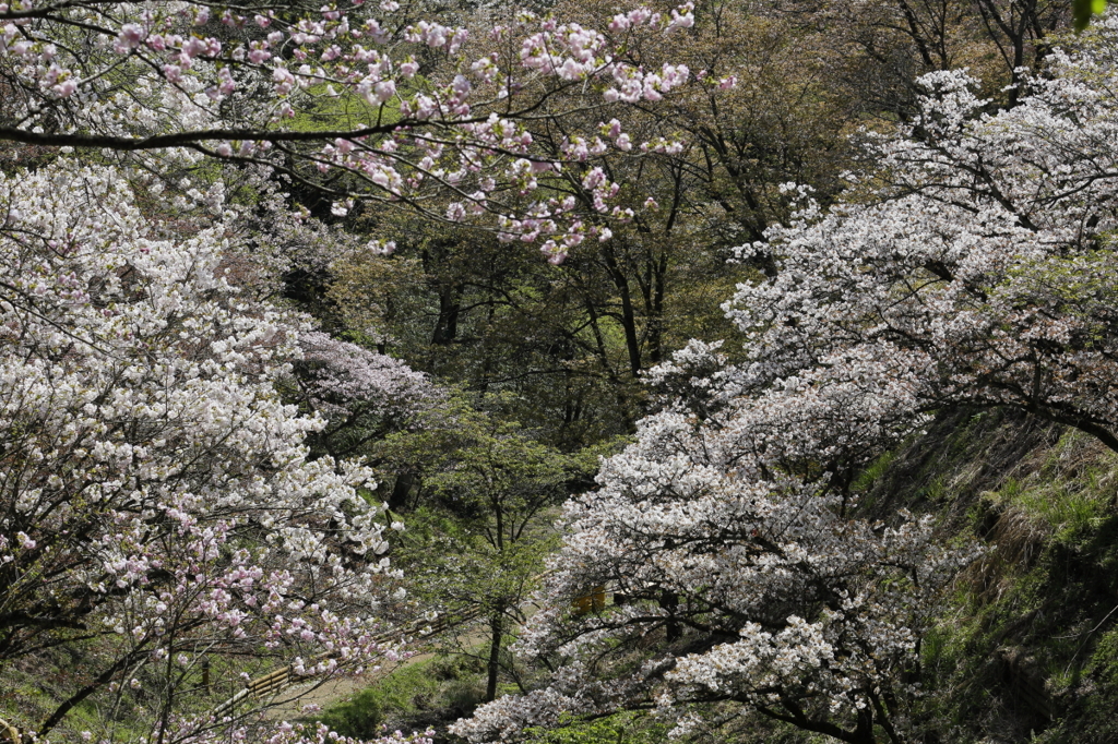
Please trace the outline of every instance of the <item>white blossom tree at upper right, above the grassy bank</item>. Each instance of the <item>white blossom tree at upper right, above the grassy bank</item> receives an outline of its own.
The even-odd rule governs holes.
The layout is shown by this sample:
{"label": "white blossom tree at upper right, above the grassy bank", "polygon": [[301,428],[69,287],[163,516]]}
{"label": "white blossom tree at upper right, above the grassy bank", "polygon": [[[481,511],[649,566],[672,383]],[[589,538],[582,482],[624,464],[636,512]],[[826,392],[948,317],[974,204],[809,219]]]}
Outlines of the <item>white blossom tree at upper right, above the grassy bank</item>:
{"label": "white blossom tree at upper right, above the grassy bank", "polygon": [[743,248],[779,267],[727,308],[751,384],[835,354],[903,360],[920,410],[1010,406],[1118,448],[1114,28],[1053,51],[997,114],[966,74],[928,76],[919,116],[871,145],[846,203]]}

